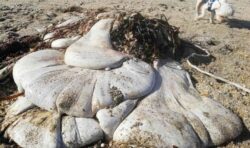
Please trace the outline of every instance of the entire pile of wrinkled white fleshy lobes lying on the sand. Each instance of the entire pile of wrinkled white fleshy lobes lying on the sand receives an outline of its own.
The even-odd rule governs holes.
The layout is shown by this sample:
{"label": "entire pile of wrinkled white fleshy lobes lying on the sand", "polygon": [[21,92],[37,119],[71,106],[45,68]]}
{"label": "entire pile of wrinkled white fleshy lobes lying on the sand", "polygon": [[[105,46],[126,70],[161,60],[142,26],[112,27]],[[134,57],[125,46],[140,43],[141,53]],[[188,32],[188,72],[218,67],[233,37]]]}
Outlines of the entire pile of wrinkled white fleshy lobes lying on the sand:
{"label": "entire pile of wrinkled white fleshy lobes lying on the sand", "polygon": [[42,50],[16,63],[14,80],[25,95],[7,112],[7,136],[21,147],[80,147],[104,138],[207,147],[241,133],[239,118],[200,96],[174,61],[152,67],[113,50],[112,22],[97,22],[65,54]]}

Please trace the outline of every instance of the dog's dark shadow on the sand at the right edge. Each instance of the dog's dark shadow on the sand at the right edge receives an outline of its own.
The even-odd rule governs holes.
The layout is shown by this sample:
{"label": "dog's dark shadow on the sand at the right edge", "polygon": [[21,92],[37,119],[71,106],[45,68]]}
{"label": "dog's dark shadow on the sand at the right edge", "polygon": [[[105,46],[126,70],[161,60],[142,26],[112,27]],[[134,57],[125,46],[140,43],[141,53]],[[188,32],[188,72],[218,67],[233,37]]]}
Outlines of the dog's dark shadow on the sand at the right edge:
{"label": "dog's dark shadow on the sand at the right edge", "polygon": [[227,23],[227,25],[230,28],[250,30],[250,21],[248,21],[248,20],[230,19],[230,21]]}

